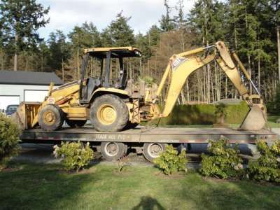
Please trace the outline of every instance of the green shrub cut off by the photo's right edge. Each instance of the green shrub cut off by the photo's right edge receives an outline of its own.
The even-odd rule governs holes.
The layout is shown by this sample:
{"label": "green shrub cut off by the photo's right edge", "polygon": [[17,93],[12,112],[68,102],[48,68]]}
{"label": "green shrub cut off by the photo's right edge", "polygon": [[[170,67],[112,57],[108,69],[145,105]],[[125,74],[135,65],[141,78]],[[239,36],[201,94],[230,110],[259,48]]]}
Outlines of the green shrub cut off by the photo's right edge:
{"label": "green shrub cut off by the photo's right edge", "polygon": [[248,176],[258,181],[280,183],[280,141],[276,141],[270,148],[265,141],[258,141],[257,148],[260,158],[249,162]]}

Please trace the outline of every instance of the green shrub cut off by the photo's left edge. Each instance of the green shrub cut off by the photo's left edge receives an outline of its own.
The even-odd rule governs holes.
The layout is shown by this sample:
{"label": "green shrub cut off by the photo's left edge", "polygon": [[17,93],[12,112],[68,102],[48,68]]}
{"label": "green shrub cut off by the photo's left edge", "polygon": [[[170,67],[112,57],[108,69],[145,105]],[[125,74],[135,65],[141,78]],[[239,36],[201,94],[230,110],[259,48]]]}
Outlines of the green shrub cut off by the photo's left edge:
{"label": "green shrub cut off by the photo's left edge", "polygon": [[19,134],[17,125],[0,113],[0,170],[6,167],[12,156],[18,154]]}

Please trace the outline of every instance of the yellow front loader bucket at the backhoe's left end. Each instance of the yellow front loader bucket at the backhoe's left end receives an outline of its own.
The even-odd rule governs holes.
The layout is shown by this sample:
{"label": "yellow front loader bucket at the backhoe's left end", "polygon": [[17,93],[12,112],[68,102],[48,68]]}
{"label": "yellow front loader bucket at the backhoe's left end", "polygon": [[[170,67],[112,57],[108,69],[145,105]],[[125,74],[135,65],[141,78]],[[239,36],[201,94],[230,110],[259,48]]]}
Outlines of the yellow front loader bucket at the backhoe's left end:
{"label": "yellow front loader bucket at the backhoe's left end", "polygon": [[31,129],[40,106],[40,102],[22,102],[17,111],[11,116],[11,119],[18,125],[20,130]]}

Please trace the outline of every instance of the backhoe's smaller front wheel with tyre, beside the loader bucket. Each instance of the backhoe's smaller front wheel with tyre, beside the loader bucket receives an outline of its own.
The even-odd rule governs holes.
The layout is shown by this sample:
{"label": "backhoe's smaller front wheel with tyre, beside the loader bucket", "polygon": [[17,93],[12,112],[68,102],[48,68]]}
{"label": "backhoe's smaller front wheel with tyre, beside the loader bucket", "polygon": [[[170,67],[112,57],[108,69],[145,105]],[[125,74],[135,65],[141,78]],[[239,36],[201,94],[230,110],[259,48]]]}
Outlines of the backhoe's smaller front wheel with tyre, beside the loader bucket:
{"label": "backhoe's smaller front wheel with tyre, beside the loader bucket", "polygon": [[41,109],[38,123],[43,130],[59,130],[64,122],[64,113],[59,106],[48,104]]}

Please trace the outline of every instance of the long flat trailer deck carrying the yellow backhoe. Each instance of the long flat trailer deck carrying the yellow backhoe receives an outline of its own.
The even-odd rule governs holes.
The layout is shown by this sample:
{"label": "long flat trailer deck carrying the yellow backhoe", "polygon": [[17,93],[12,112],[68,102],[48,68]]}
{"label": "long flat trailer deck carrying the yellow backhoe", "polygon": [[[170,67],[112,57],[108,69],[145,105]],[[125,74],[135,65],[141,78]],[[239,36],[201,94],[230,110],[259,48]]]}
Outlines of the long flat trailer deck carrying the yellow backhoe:
{"label": "long flat trailer deck carrying the yellow backhoe", "polygon": [[254,144],[258,139],[276,140],[277,134],[268,130],[249,131],[229,128],[177,128],[177,127],[137,127],[123,132],[97,132],[91,127],[67,128],[45,132],[41,129],[24,130],[20,139],[25,141],[89,141],[123,143],[207,143],[209,139],[225,137],[230,143]]}

